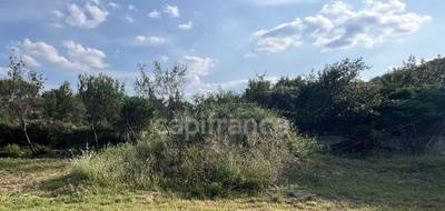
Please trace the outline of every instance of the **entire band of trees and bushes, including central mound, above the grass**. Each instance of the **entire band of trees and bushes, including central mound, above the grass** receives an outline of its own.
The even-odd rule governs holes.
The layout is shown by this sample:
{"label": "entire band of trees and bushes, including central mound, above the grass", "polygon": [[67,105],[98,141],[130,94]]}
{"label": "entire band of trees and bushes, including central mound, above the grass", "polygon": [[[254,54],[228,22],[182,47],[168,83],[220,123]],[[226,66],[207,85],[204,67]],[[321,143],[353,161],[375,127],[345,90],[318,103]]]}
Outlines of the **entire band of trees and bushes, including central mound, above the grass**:
{"label": "entire band of trees and bushes, including central mound, above the grass", "polygon": [[[10,59],[0,80],[3,155],[82,154],[72,175],[91,185],[185,197],[264,193],[289,182],[320,147],[335,152],[423,153],[441,133],[445,60],[403,67],[369,81],[362,60],[345,59],[316,73],[277,82],[251,79],[243,94],[185,99],[187,67],[152,72],[140,66],[136,96],[105,74],[79,77],[43,91],[42,77]],[[399,140],[397,147],[389,145]],[[91,149],[93,147],[93,149]],[[79,153],[82,151],[81,153]]]}

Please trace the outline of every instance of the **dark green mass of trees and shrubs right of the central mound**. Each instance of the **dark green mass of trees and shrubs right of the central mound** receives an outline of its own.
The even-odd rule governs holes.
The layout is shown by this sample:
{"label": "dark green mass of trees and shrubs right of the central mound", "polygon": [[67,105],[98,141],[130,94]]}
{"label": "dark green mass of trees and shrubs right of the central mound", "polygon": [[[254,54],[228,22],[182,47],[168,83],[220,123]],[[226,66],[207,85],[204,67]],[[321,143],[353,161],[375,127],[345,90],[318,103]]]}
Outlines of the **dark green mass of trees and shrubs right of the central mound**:
{"label": "dark green mass of trees and shrubs right of the central mound", "polygon": [[[372,151],[390,138],[403,139],[398,150],[424,152],[443,121],[445,60],[417,63],[414,57],[389,73],[363,81],[369,67],[345,59],[320,71],[276,83],[263,76],[249,81],[244,94],[275,109],[312,135],[348,138],[345,151]],[[434,130],[434,129],[433,129]]]}

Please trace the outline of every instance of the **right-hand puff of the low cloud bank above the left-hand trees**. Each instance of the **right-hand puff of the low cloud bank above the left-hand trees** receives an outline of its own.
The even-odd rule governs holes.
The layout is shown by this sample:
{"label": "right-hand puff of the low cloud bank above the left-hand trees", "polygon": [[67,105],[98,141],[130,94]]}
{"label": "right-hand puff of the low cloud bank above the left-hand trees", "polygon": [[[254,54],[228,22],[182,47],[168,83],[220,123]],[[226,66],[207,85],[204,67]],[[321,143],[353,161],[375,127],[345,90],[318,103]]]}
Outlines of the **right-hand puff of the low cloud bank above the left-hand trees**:
{"label": "right-hand puff of the low cloud bank above the left-hand trees", "polygon": [[107,57],[102,51],[88,47],[82,47],[72,40],[65,41],[71,61],[96,69],[105,69],[108,64],[103,61]]}

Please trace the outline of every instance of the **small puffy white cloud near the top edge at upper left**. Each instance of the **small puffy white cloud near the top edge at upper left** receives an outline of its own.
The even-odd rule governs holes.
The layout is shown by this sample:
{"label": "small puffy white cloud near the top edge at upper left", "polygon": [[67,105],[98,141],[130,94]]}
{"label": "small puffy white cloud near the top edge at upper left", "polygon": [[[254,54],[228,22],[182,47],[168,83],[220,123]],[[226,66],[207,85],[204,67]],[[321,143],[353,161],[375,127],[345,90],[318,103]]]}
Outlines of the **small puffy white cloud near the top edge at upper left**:
{"label": "small puffy white cloud near the top edge at upper left", "polygon": [[67,24],[71,27],[93,29],[107,20],[108,11],[96,4],[87,3],[83,8],[71,3],[68,6]]}

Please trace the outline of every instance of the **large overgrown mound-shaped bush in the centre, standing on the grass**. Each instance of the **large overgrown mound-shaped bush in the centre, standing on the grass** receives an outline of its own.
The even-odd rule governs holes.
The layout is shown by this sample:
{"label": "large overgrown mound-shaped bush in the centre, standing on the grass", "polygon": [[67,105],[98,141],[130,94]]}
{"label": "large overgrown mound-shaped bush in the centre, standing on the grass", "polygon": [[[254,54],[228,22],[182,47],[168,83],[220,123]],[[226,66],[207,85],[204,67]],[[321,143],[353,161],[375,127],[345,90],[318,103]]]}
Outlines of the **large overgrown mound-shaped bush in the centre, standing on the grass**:
{"label": "large overgrown mound-shaped bush in the centre, standing on the grass", "polygon": [[[307,152],[300,147],[312,148],[312,142],[296,135],[286,121],[251,104],[201,102],[192,111],[194,115],[178,117],[174,124],[152,125],[135,145],[85,154],[73,162],[73,171],[106,187],[160,189],[199,198],[254,194],[278,183],[297,157]],[[233,123],[221,125],[220,132],[197,131],[187,137],[174,132],[188,119],[207,114],[267,119],[267,132],[249,128],[230,134]]]}

